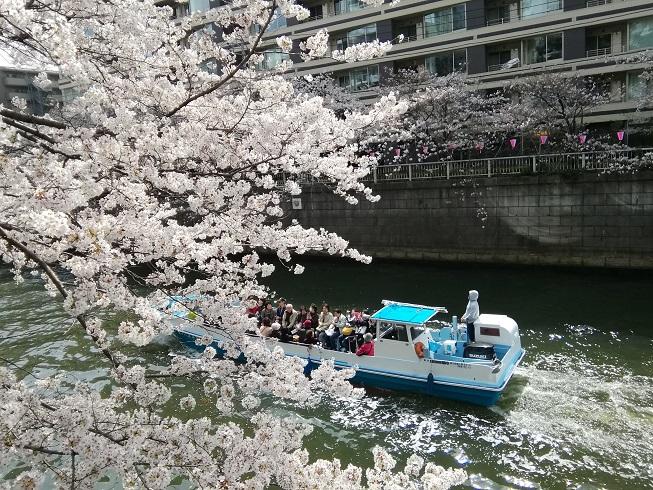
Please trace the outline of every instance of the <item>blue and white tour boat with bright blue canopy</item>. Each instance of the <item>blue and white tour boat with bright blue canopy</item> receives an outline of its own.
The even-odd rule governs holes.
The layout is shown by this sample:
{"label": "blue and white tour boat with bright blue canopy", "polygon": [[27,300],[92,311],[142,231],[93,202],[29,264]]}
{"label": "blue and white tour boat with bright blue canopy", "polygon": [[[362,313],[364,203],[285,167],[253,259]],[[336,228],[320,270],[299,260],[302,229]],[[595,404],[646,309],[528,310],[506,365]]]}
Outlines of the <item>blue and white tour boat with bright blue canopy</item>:
{"label": "blue and white tour boat with bright blue canopy", "polygon": [[[517,323],[506,315],[481,314],[474,323],[474,342],[467,342],[466,326],[440,321],[446,308],[396,301],[369,318],[374,355],[329,350],[300,342],[258,337],[270,349],[306,361],[305,373],[333,359],[336,368],[354,368],[354,384],[410,391],[437,397],[494,405],[524,357]],[[174,334],[186,345],[203,349],[195,340],[207,334],[227,340],[219,331],[188,321],[179,312],[170,316]],[[421,344],[421,345],[420,345]]]}

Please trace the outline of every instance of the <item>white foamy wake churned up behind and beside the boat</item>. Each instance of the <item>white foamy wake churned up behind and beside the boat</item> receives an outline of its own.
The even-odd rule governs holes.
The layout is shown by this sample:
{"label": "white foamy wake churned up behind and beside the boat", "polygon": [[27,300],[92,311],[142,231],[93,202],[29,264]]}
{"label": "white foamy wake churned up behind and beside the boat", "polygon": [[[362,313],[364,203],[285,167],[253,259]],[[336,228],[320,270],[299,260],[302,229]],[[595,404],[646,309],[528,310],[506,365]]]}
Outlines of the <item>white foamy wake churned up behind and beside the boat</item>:
{"label": "white foamy wake churned up behind and beside the boat", "polygon": [[[326,433],[361,454],[372,441],[360,434],[374,433],[398,453],[466,467],[473,488],[653,487],[653,378],[625,366],[623,349],[607,348],[647,340],[565,328],[545,339],[548,349],[527,346],[535,353],[490,410],[370,392],[363,404],[324,407],[320,440]],[[649,362],[633,365],[650,372]]]}

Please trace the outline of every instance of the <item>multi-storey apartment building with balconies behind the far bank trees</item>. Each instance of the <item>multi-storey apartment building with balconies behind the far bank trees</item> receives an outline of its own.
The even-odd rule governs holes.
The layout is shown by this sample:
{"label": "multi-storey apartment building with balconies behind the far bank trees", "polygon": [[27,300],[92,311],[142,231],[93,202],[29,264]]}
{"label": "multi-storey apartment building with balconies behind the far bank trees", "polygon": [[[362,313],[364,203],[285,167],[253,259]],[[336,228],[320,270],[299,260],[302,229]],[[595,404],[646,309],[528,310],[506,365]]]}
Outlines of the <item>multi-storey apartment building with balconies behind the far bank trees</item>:
{"label": "multi-storey apartment building with balconies behind the far bank trees", "polygon": [[[176,14],[219,5],[220,0],[190,0],[176,7]],[[402,68],[462,70],[488,89],[544,71],[578,72],[595,77],[612,94],[611,103],[588,122],[641,124],[653,116],[651,108],[638,104],[653,90],[639,76],[647,66],[632,59],[653,49],[649,0],[386,0],[380,7],[359,0],[302,0],[302,5],[310,10],[308,19],[280,16],[270,25],[263,68],[290,58],[297,74],[329,73],[362,99],[374,98],[370,88]],[[329,30],[332,50],[373,39],[396,45],[382,59],[345,65],[329,57],[303,61],[278,52],[274,43],[285,34],[299,44],[322,28]]]}

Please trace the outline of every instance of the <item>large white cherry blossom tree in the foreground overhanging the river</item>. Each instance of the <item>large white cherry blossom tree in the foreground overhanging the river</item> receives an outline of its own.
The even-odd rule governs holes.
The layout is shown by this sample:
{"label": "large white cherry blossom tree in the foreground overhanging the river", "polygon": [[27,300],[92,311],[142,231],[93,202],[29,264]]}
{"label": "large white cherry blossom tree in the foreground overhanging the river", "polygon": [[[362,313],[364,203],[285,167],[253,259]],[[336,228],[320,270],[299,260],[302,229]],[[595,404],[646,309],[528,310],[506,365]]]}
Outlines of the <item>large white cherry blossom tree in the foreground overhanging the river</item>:
{"label": "large white cherry blossom tree in the foreground overhanging the river", "polygon": [[[254,70],[275,11],[308,15],[291,0],[234,0],[178,21],[152,0],[0,6],[2,49],[56,67],[77,93],[44,116],[20,100],[0,107],[0,255],[17,281],[35,274],[61,298],[112,379],[100,394],[66,373],[34,382],[4,360],[0,464],[30,467],[16,486],[35,488],[46,473],[70,488],[91,488],[107,472],[144,488],[174,477],[202,488],[343,489],[448,488],[466,478],[419,457],[396,469],[381,448],[368,469],[313,461],[302,447],[310,427],[260,408],[261,392],[302,404],[324,391],[361,396],[346,381],[352,371],[325,363],[309,380],[299,360],[248,340],[250,320],[232,305],[264,296],[259,280],[275,263],[301,273],[293,255],[369,260],[335,234],[288,222],[284,203],[304,174],[350,202],[376,200],[360,182],[375,162],[352,142],[406,108],[389,94],[338,117],[279,73]],[[228,32],[223,42],[205,23]],[[305,56],[322,56],[325,40],[325,32],[309,38]],[[47,77],[36,83],[49,88]],[[127,346],[170,332],[160,306],[171,297],[187,298],[183,306],[210,329],[200,358],[155,369]],[[126,319],[103,321],[109,309]],[[215,331],[233,339],[223,360],[211,346]],[[240,353],[247,362],[232,362]],[[180,396],[180,380],[196,387],[192,395]],[[250,411],[251,425],[198,415],[199,400],[222,414]],[[164,415],[171,405],[175,416]]]}

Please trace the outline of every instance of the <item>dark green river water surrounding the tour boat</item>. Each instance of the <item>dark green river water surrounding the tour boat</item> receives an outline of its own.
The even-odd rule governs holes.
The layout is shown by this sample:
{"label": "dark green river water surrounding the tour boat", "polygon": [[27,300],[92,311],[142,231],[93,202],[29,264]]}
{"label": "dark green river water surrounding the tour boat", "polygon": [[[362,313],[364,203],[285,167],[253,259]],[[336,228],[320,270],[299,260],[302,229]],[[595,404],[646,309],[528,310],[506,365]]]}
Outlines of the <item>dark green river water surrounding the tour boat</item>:
{"label": "dark green river water surrounding the tour boat", "polygon": [[[367,465],[380,444],[401,460],[417,452],[463,466],[473,488],[653,488],[653,280],[648,273],[423,265],[370,266],[308,261],[270,285],[295,306],[376,308],[382,299],[447,306],[461,314],[466,292],[481,311],[520,325],[528,355],[496,407],[370,392],[363,402],[328,401],[300,409],[266,399],[280,415],[316,430],[319,457]],[[106,384],[106,366],[69,329],[57,300],[34,282],[16,286],[0,269],[0,352],[37,375],[57,369]],[[170,351],[161,339],[139,352],[155,363]],[[210,407],[210,405],[208,405]],[[206,408],[205,410],[210,410]],[[245,421],[248,414],[236,416]]]}

